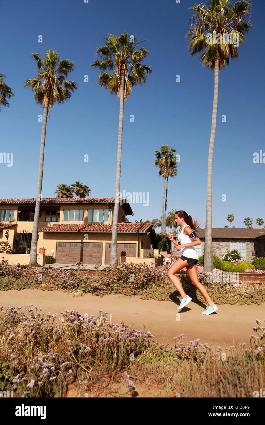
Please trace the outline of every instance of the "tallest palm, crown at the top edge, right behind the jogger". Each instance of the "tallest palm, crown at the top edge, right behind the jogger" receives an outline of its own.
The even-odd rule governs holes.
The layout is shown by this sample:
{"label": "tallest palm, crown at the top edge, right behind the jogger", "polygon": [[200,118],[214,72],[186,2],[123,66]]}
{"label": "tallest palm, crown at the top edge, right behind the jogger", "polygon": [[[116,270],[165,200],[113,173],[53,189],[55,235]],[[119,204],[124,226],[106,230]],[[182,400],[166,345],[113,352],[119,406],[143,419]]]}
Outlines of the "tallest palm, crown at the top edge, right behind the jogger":
{"label": "tallest palm, crown at the top edge, right behind the jogger", "polygon": [[[231,37],[237,37],[237,45],[245,40],[245,33],[254,28],[250,23],[243,22],[250,15],[251,3],[238,1],[232,6],[229,0],[211,0],[208,6],[200,3],[190,9],[194,16],[190,19],[190,29],[186,37],[190,37],[189,51],[191,57],[202,52],[200,62],[214,71],[214,102],[211,124],[211,138],[208,155],[207,171],[207,201],[205,220],[205,255],[203,272],[212,272],[212,168],[214,153],[214,138],[217,118],[217,100],[219,71],[229,65],[229,58],[237,59],[236,43],[231,43]],[[217,36],[217,37],[216,37]],[[229,38],[230,37],[230,38]]]}

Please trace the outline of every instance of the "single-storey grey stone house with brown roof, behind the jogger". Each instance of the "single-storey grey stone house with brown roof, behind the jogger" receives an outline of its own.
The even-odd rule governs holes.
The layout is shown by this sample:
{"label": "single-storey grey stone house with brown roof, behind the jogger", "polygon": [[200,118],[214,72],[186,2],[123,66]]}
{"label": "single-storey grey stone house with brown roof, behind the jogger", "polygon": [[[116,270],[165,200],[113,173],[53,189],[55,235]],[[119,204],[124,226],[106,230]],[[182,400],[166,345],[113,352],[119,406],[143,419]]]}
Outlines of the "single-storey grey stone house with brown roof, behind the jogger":
{"label": "single-storey grey stone house with brown roof, behind the jogger", "polygon": [[[204,254],[205,246],[205,229],[196,230],[202,244],[194,246],[198,255]],[[226,252],[237,249],[242,260],[251,261],[256,252],[257,257],[265,256],[265,229],[227,229],[213,228],[213,255],[221,257]],[[179,255],[177,246],[172,244],[172,254]]]}

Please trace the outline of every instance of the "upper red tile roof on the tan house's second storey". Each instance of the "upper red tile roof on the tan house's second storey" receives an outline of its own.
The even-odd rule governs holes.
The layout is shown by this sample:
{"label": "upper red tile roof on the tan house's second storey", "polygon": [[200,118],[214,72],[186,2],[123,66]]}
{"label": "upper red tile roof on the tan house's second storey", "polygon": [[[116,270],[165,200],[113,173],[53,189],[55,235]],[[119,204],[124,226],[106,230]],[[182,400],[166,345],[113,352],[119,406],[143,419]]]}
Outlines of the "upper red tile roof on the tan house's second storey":
{"label": "upper red tile roof on the tan house's second storey", "polygon": [[[120,202],[123,199],[120,198]],[[36,198],[6,198],[0,199],[0,204],[35,204]],[[42,198],[41,204],[94,204],[94,203],[114,203],[115,198]],[[128,203],[128,202],[127,202]]]}

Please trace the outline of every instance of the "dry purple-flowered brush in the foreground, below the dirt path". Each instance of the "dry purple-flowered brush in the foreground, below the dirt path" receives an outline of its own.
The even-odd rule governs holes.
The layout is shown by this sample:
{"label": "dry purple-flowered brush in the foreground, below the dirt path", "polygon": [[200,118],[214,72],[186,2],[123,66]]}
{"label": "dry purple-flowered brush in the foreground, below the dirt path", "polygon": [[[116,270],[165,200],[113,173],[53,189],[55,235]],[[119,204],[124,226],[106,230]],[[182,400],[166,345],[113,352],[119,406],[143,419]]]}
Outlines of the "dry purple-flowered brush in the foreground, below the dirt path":
{"label": "dry purple-flowered brush in the foreground, below the dirt path", "polygon": [[[20,311],[20,306],[9,306],[2,312],[3,306],[0,307],[0,341],[4,341],[0,344],[0,391],[14,391],[14,397],[54,397],[55,394],[66,397],[70,384],[75,382],[75,385],[82,385],[83,375],[87,385],[88,377],[96,383],[102,380],[103,374],[115,377],[117,372],[128,370],[131,354],[137,358],[141,371],[148,371],[145,363],[151,363],[152,375],[160,370],[156,366],[160,366],[161,360],[167,368],[170,365],[176,375],[180,375],[181,369],[180,380],[177,381],[180,386],[185,379],[187,385],[194,387],[194,380],[190,381],[196,370],[200,380],[197,380],[194,396],[198,394],[199,384],[202,389],[205,388],[202,379],[204,374],[208,374],[206,381],[211,378],[213,370],[221,376],[224,365],[222,382],[228,389],[233,379],[237,385],[239,377],[253,377],[256,370],[259,371],[259,379],[264,378],[265,326],[261,326],[261,320],[256,320],[258,326],[253,328],[256,335],[251,335],[249,350],[245,349],[245,343],[239,344],[239,351],[235,346],[230,346],[230,362],[221,358],[221,354],[225,354],[221,347],[218,347],[220,352],[212,351],[212,343],[200,344],[197,338],[185,344],[187,336],[180,334],[174,337],[174,346],[168,348],[168,344],[152,340],[154,336],[150,331],[137,331],[123,322],[120,325],[110,323],[106,317],[108,313],[101,310],[97,317],[66,310],[61,312],[63,322],[55,326],[56,314],[37,313],[37,306],[34,307],[34,314],[31,307],[32,304],[28,306],[27,314]],[[179,341],[176,342],[177,338]],[[260,363],[257,363],[259,360]],[[169,382],[172,383],[172,376],[166,375],[167,386]],[[159,382],[161,376],[158,376]],[[129,391],[133,396],[134,383],[127,372],[124,372],[124,377],[127,377]],[[218,382],[216,388],[220,388]],[[249,397],[252,397],[253,387],[250,388]],[[212,394],[213,390],[211,385],[205,397]],[[230,391],[226,395],[235,394],[234,387]],[[222,396],[222,391],[219,394],[217,390],[217,395]]]}

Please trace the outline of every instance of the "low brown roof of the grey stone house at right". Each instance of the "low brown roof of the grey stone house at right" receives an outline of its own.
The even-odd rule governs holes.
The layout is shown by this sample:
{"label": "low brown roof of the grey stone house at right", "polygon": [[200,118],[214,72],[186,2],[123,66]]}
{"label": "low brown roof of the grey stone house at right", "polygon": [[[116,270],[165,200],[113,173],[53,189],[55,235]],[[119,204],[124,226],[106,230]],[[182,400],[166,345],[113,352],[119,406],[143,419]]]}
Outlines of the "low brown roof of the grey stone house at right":
{"label": "low brown roof of the grey stone house at right", "polygon": [[[205,229],[196,230],[199,238],[205,238]],[[221,239],[256,239],[258,237],[265,237],[265,229],[227,229],[227,228],[216,228],[212,229],[212,238]]]}

